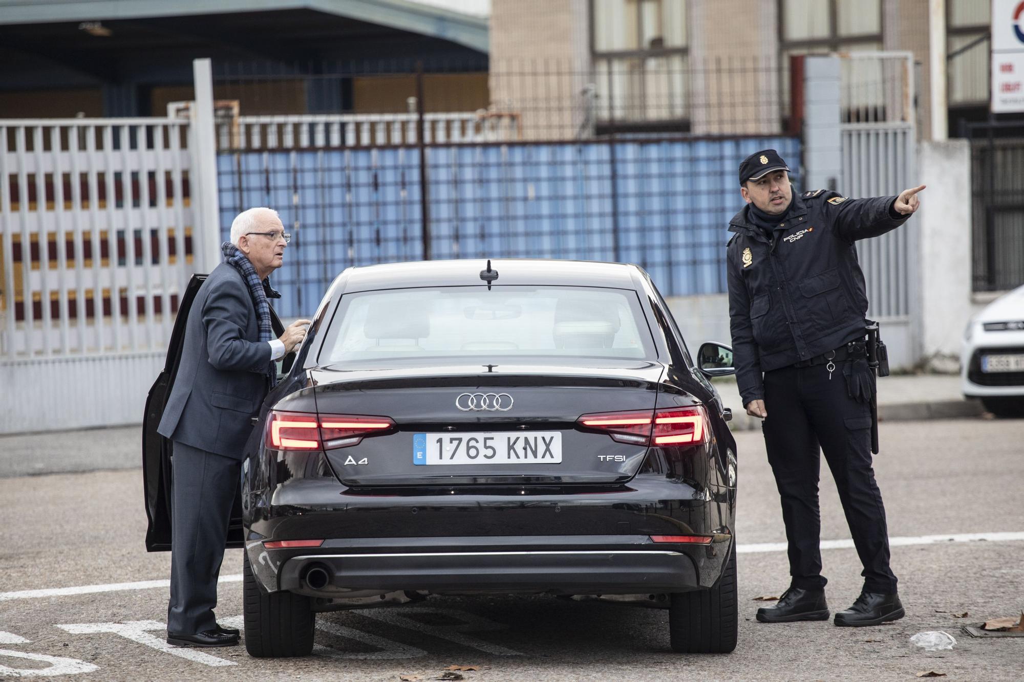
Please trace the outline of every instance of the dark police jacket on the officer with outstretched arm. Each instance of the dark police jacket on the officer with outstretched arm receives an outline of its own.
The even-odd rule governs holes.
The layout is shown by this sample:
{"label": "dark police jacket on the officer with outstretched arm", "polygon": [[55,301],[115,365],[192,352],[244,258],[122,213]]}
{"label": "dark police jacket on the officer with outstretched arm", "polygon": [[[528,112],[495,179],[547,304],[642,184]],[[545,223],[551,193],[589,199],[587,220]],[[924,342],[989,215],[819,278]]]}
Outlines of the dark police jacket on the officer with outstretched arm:
{"label": "dark police jacket on the officer with outstretched arm", "polygon": [[794,195],[773,238],[732,218],[726,248],[733,359],[743,406],[764,399],[763,372],[788,367],[864,335],[867,295],[854,243],[903,224],[896,197]]}

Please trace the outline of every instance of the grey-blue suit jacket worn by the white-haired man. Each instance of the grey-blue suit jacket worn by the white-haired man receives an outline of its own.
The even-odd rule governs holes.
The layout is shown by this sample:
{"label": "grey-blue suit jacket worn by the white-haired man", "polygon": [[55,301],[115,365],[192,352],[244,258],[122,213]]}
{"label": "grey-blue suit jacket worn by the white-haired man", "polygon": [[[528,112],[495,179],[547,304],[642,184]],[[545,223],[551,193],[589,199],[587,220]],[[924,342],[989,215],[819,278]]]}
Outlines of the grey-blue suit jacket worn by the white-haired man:
{"label": "grey-blue suit jacket worn by the white-haired man", "polygon": [[161,435],[242,459],[250,418],[269,389],[270,344],[245,280],[221,263],[200,287],[188,312],[181,363],[167,399]]}

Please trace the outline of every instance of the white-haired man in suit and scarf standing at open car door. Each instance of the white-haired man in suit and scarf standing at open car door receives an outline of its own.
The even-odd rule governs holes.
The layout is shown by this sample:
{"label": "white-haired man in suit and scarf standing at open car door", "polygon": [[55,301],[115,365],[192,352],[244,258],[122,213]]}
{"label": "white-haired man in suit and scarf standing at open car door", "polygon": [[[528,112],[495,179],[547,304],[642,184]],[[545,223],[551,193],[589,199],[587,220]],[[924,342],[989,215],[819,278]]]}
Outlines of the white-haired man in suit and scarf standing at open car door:
{"label": "white-haired man in suit and scarf standing at open car door", "polygon": [[239,485],[242,450],[276,382],[274,360],[305,336],[299,319],[273,338],[267,275],[281,267],[290,235],[268,208],[240,213],[224,262],[200,288],[188,312],[174,387],[159,431],[173,441],[171,599],[167,643],[232,646],[239,631],[213,614],[217,576]]}

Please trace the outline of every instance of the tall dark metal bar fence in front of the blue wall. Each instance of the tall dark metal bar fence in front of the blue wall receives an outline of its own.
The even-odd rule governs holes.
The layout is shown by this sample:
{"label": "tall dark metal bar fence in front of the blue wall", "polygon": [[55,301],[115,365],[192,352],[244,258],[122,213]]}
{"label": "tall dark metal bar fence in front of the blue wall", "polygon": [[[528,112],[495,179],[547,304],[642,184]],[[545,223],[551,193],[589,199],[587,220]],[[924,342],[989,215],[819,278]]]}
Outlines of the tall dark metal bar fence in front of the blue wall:
{"label": "tall dark metal bar fence in front of the blue wall", "polygon": [[308,313],[344,267],[438,258],[636,262],[667,295],[725,291],[736,166],[784,134],[751,59],[221,65],[220,225],[278,209],[275,274]]}

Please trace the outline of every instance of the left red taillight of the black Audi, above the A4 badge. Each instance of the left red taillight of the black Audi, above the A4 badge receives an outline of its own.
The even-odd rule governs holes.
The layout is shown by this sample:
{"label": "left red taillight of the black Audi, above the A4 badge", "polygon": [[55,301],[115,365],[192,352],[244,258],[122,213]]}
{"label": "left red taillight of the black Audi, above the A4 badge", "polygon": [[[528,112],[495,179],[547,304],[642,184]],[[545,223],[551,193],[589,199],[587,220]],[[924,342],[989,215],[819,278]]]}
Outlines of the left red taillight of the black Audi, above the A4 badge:
{"label": "left red taillight of the black Audi, above the A4 badge", "polygon": [[394,429],[387,417],[314,415],[273,410],[267,420],[265,445],[272,450],[312,451],[346,447],[362,438]]}

